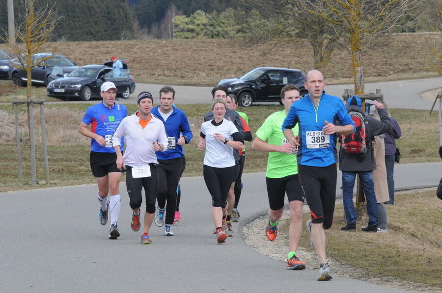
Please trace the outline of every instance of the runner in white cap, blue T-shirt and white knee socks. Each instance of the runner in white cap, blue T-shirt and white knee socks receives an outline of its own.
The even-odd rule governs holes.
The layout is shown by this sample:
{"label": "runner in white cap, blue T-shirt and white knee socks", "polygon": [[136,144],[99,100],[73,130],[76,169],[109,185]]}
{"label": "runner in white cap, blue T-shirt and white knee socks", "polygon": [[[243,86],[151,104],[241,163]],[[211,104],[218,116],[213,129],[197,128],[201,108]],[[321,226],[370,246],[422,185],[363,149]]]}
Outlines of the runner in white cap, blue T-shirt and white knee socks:
{"label": "runner in white cap, blue T-shirt and white knee socks", "polygon": [[[120,213],[119,183],[122,170],[116,166],[116,154],[112,145],[112,134],[118,124],[127,115],[124,105],[115,103],[116,87],[107,81],[101,85],[100,96],[103,102],[87,108],[78,132],[91,138],[90,168],[97,178],[100,223],[106,225],[111,211],[110,239],[120,236],[117,221]],[[89,129],[88,126],[91,125]],[[115,141],[113,141],[115,143]],[[119,151],[123,150],[124,141],[118,142]],[[110,195],[110,196],[108,196]]]}

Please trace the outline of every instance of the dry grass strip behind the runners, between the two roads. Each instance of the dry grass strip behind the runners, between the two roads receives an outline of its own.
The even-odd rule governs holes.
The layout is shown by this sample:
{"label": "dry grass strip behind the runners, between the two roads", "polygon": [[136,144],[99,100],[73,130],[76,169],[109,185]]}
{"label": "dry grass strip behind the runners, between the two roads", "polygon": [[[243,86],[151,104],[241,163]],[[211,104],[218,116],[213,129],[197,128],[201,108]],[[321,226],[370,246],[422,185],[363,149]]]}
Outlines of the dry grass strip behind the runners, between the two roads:
{"label": "dry grass strip behind the runners, between the two roads", "polygon": [[[93,183],[90,175],[88,155],[89,140],[77,131],[83,113],[90,104],[48,104],[46,105],[46,126],[48,138],[49,165],[51,184],[55,186]],[[188,116],[195,139],[186,146],[186,171],[184,176],[201,176],[203,151],[198,151],[197,137],[200,132],[202,116],[209,109],[206,104],[178,105]],[[20,131],[22,152],[24,156],[24,178],[26,183],[18,185],[17,181],[17,149],[15,146],[14,112],[12,105],[0,105],[0,192],[31,188],[29,186],[29,140],[26,123],[25,107],[21,108]],[[128,105],[129,113],[136,110],[136,105]],[[249,116],[249,126],[254,136],[264,120],[276,111],[282,110],[279,105],[253,105],[246,111]],[[37,176],[44,181],[43,159],[40,144],[40,128],[38,111],[36,111],[37,137]],[[402,152],[401,163],[439,162],[438,118],[429,116],[428,111],[393,109],[395,117],[402,127],[403,136],[397,140]],[[422,144],[421,142],[426,142]],[[267,165],[267,153],[254,151],[251,143],[246,142],[247,160],[245,172],[263,172]],[[39,187],[46,187],[40,185]]]}

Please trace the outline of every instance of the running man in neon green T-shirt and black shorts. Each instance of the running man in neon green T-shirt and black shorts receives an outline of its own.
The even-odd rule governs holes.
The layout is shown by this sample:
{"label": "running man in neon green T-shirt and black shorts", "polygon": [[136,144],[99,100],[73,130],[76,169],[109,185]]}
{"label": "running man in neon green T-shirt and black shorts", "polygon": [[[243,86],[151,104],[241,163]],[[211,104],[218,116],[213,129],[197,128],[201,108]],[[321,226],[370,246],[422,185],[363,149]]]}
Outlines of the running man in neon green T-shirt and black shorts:
{"label": "running man in neon green T-shirt and black shorts", "polygon": [[[289,253],[287,269],[305,269],[305,263],[296,255],[299,239],[302,233],[304,193],[298,178],[296,153],[298,149],[290,146],[282,133],[282,122],[291,105],[300,99],[299,89],[289,84],[281,90],[281,102],[284,110],[273,113],[256,131],[253,149],[269,152],[266,171],[267,195],[269,197],[269,223],[266,227],[266,237],[275,241],[278,220],[284,211],[284,198],[287,193],[290,209]],[[298,127],[293,128],[293,134],[298,135]]]}

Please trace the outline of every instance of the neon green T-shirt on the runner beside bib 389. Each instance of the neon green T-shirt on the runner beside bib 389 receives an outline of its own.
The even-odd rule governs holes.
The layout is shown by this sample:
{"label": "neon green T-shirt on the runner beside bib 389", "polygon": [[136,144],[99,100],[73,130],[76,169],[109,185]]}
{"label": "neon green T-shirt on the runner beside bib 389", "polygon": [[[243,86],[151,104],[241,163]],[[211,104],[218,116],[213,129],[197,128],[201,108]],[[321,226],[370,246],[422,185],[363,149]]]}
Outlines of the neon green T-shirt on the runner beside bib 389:
{"label": "neon green T-shirt on the runner beside bib 389", "polygon": [[[273,113],[256,131],[256,136],[263,141],[268,141],[269,145],[281,146],[287,143],[288,141],[281,129],[282,122],[286,117],[284,110]],[[292,128],[295,136],[298,135],[298,129],[298,126]],[[269,152],[266,177],[282,178],[294,174],[298,174],[296,154],[285,154],[278,151]]]}

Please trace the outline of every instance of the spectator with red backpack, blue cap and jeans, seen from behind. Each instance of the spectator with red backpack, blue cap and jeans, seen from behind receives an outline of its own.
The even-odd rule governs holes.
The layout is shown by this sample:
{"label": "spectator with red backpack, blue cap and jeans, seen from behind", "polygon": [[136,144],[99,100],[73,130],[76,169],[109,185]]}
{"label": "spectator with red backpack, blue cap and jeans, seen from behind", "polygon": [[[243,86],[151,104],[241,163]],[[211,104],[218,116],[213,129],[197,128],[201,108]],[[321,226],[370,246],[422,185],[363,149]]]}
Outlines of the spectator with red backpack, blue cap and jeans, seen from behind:
{"label": "spectator with red backpack, blue cap and jeans, seen from behind", "polygon": [[341,135],[339,139],[341,144],[339,170],[342,171],[342,196],[347,220],[347,225],[341,228],[342,231],[356,230],[357,214],[353,204],[356,174],[359,174],[367,203],[368,225],[362,228],[362,231],[377,232],[378,230],[377,200],[373,183],[373,170],[376,169],[376,161],[372,142],[375,136],[391,129],[391,122],[384,105],[376,100],[374,105],[381,121],[365,116],[365,112],[361,109],[360,98],[351,97],[347,101],[347,111],[356,124],[356,131],[353,134]]}

